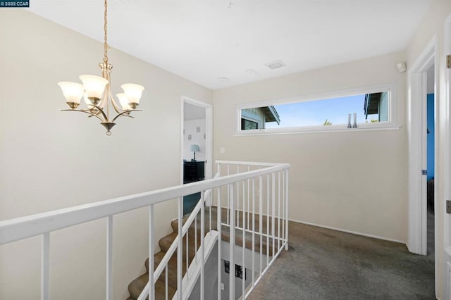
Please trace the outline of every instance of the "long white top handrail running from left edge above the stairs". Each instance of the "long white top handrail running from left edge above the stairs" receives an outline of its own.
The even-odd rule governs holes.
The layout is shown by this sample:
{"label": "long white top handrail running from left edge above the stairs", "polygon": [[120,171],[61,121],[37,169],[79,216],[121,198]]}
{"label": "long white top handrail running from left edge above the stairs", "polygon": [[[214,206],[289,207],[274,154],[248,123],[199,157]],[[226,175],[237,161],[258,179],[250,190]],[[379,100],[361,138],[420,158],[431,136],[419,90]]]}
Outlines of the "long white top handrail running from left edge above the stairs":
{"label": "long white top handrail running from left edge above the stairs", "polygon": [[[229,162],[232,163],[232,162]],[[241,162],[242,163],[242,162]],[[246,164],[254,164],[247,163]],[[262,165],[262,163],[255,163]],[[199,190],[208,190],[222,185],[228,185],[240,180],[247,180],[252,177],[276,172],[290,167],[288,163],[271,164],[268,168],[252,170],[246,173],[238,173],[223,177],[192,182],[187,185],[178,185],[157,189],[151,192],[143,192],[122,196],[115,199],[98,201],[91,204],[83,204],[70,208],[62,208],[46,213],[37,213],[20,218],[0,221],[0,245],[15,242],[27,237],[35,237],[45,232],[61,230],[73,225],[87,223],[109,215],[131,211],[152,204],[158,204],[168,199],[176,199],[187,194],[194,194]]]}

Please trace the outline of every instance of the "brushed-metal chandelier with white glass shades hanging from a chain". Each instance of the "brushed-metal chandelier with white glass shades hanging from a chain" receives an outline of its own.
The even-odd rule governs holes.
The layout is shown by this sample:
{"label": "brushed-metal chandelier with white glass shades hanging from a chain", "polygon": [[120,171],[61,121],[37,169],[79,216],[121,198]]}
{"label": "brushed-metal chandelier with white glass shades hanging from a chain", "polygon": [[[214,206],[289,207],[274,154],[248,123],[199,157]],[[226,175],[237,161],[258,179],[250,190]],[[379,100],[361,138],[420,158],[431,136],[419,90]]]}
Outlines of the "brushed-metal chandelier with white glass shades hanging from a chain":
{"label": "brushed-metal chandelier with white glass shades hanging from a chain", "polygon": [[[88,118],[95,117],[100,120],[100,124],[106,128],[106,135],[111,135],[111,128],[116,125],[114,121],[119,117],[133,118],[130,113],[137,110],[136,107],[140,104],[141,94],[144,90],[142,85],[135,85],[134,83],[125,83],[121,85],[123,93],[116,94],[119,100],[119,105],[111,95],[111,80],[110,73],[113,65],[108,63],[108,43],[107,38],[107,4],[104,1],[104,62],[99,63],[101,68],[101,77],[96,75],[81,75],[80,80],[82,84],[77,82],[58,82],[58,85],[63,91],[66,98],[66,103],[70,109],[63,109],[62,111],[80,111],[80,113],[87,113]],[[86,109],[80,109],[80,99],[83,97]],[[116,115],[110,118],[110,108],[116,111]]]}

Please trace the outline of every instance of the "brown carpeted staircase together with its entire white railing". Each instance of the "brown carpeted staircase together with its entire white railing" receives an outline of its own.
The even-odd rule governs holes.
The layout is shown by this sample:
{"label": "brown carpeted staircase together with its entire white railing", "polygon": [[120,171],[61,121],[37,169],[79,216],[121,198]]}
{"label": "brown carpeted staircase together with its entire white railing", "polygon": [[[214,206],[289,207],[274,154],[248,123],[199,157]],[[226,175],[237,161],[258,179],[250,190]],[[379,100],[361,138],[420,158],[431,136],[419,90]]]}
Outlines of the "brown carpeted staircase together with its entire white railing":
{"label": "brown carpeted staircase together with its entire white railing", "polygon": [[[290,165],[249,161],[216,161],[216,165],[216,175],[212,179],[26,215],[11,220],[0,220],[0,246],[30,237],[41,239],[40,249],[34,251],[40,251],[42,254],[40,259],[41,299],[49,300],[52,271],[50,245],[54,239],[51,233],[94,220],[106,220],[105,299],[111,300],[115,284],[113,280],[115,236],[113,217],[126,211],[149,208],[149,249],[152,253],[156,243],[152,233],[155,205],[173,201],[173,199],[179,199],[179,205],[183,205],[183,196],[200,193],[202,200],[191,215],[183,217],[182,212],[179,212],[178,220],[185,224],[179,225],[177,220],[171,223],[173,232],[159,241],[161,251],[150,256],[153,265],[149,266],[149,260],[147,260],[146,273],[130,283],[128,299],[144,298],[147,295],[152,295],[150,296],[152,300],[172,299],[173,295],[178,295],[178,299],[187,299],[191,291],[198,292],[199,299],[214,298],[215,296],[211,296],[212,293],[221,296],[221,285],[211,284],[212,279],[228,285],[227,288],[225,287],[225,291],[229,294],[228,299],[235,300],[237,297],[245,299],[281,251],[288,250],[290,182],[288,170]],[[205,208],[205,204],[216,204],[218,207],[227,208],[219,211],[215,206],[211,209]],[[243,211],[245,211],[244,214]],[[202,213],[202,220],[205,220],[203,224],[200,222],[201,218],[196,215],[199,212]],[[216,216],[218,218],[221,216],[221,226],[216,227]],[[244,226],[243,223],[245,223]],[[178,227],[182,227],[180,235],[178,235]],[[200,232],[204,232],[205,237]],[[174,243],[175,239],[176,243]],[[200,252],[204,255],[194,256],[201,246],[201,241],[205,247],[202,247]],[[214,244],[216,241],[219,242],[218,247]],[[177,262],[175,255],[177,249],[180,249],[179,244],[182,253],[179,253],[177,257],[182,259]],[[214,246],[218,251],[217,255],[211,252]],[[215,255],[208,256],[211,253]],[[190,264],[194,257],[195,263]],[[222,259],[229,261],[230,276],[226,276],[228,279],[223,278],[222,275]],[[211,264],[212,261],[214,264]],[[180,265],[180,270],[177,270],[177,264]],[[206,264],[209,264],[208,268],[203,267]],[[245,273],[241,282],[233,276],[243,275],[240,269],[235,268],[235,265],[244,267],[245,272],[249,270],[249,275]],[[226,269],[226,265],[223,265],[223,268]],[[217,274],[213,274],[215,271]],[[187,275],[185,275],[186,272]],[[246,277],[249,279],[247,280]],[[151,278],[152,282],[148,282],[147,278]],[[178,288],[176,282],[180,281],[182,281],[184,294],[178,294],[175,290]],[[60,283],[66,284],[66,282]],[[87,284],[86,279],[82,277],[78,282],[70,282],[72,285],[83,283]],[[237,286],[240,283],[241,289]],[[206,290],[206,287],[210,289]],[[216,291],[211,287],[213,289],[216,287]],[[208,292],[207,296],[206,292]]]}

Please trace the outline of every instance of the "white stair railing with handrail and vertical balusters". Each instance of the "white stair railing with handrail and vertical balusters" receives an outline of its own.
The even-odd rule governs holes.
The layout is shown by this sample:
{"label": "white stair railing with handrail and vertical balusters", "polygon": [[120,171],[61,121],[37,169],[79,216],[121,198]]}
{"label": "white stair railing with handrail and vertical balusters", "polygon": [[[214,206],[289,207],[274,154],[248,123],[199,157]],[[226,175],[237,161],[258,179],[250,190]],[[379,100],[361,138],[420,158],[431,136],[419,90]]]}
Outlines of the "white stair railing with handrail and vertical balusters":
{"label": "white stair railing with handrail and vertical balusters", "polygon": [[[218,177],[210,180],[200,182],[193,182],[187,185],[179,185],[175,187],[168,187],[165,189],[158,189],[152,192],[144,192],[140,194],[132,194],[129,196],[122,196],[116,199],[109,199],[105,201],[98,201],[91,204],[84,204],[74,206],[71,208],[58,209],[56,211],[49,211],[46,213],[38,213],[35,215],[28,215],[21,218],[14,218],[11,220],[0,221],[0,245],[16,242],[21,239],[35,237],[40,235],[42,237],[42,268],[41,268],[41,299],[49,299],[49,261],[50,261],[50,233],[56,230],[61,230],[66,227],[87,223],[92,220],[99,220],[104,218],[106,220],[106,299],[113,299],[112,294],[112,257],[113,257],[113,215],[131,211],[137,208],[149,207],[149,299],[155,299],[154,282],[156,278],[161,276],[163,270],[166,270],[166,295],[168,295],[168,280],[167,280],[167,263],[166,265],[159,265],[154,270],[154,249],[155,240],[154,235],[154,206],[164,201],[178,199],[178,235],[175,239],[175,246],[171,246],[171,252],[174,253],[178,249],[177,260],[177,274],[178,274],[178,292],[177,299],[183,299],[183,235],[187,235],[189,226],[183,225],[183,196],[201,192],[201,201],[199,201],[196,211],[201,213],[201,228],[200,228],[200,249],[202,251],[202,270],[200,276],[200,299],[205,299],[204,295],[204,235],[205,235],[205,206],[206,199],[210,199],[216,192],[216,206],[217,206],[217,224],[216,230],[219,233],[219,242],[222,241],[221,236],[229,228],[230,232],[230,274],[235,274],[235,230],[242,232],[242,251],[245,252],[246,235],[252,235],[252,285],[245,286],[245,275],[243,275],[242,295],[246,298],[252,291],[257,282],[264,275],[268,267],[273,263],[274,259],[280,254],[280,251],[285,247],[288,249],[288,169],[289,164],[273,164],[273,163],[249,163],[237,161],[217,161]],[[226,165],[227,173],[222,175],[222,167]],[[237,167],[237,172],[233,174],[230,166]],[[247,165],[247,168],[244,167]],[[263,187],[266,187],[266,194],[263,193]],[[240,188],[241,187],[241,188]],[[252,189],[250,189],[252,187]],[[259,192],[257,192],[257,190]],[[271,192],[270,192],[271,191]],[[224,196],[223,194],[227,194]],[[245,194],[249,196],[245,196]],[[258,196],[257,196],[258,194]],[[278,195],[278,207],[276,207],[276,199]],[[282,198],[280,198],[282,194]],[[250,198],[249,198],[250,197]],[[256,204],[255,198],[259,198]],[[226,201],[221,199],[226,198]],[[264,205],[266,200],[266,206]],[[223,202],[226,202],[224,204]],[[247,208],[245,203],[247,202]],[[271,205],[270,205],[271,204]],[[226,208],[224,208],[226,206]],[[252,207],[252,209],[251,209]],[[226,222],[223,223],[221,215],[223,210],[227,210]],[[236,215],[242,216],[240,227],[240,218],[236,219],[235,225],[235,209]],[[257,213],[258,209],[258,213]],[[209,209],[209,230],[214,230],[211,224],[211,211]],[[247,215],[247,221],[246,221]],[[278,215],[278,218],[276,218]],[[197,214],[190,215],[186,223],[197,224]],[[252,222],[249,222],[252,218]],[[262,221],[266,218],[266,230],[262,225]],[[256,220],[259,225],[255,226]],[[269,223],[271,223],[271,232],[269,230]],[[276,223],[278,227],[276,230]],[[247,225],[249,224],[249,225]],[[222,229],[224,227],[224,230]],[[280,227],[282,231],[280,232]],[[277,232],[277,233],[276,233]],[[194,230],[194,235],[197,235],[197,229]],[[196,241],[197,241],[197,237]],[[258,242],[259,239],[259,242]],[[187,241],[188,239],[186,239]],[[264,241],[266,241],[266,251],[263,248]],[[276,243],[277,241],[277,243]],[[272,243],[272,247],[270,244]],[[257,247],[257,244],[259,245]],[[275,248],[278,245],[277,249]],[[173,249],[174,248],[174,249]],[[218,282],[221,282],[221,246],[218,246]],[[259,248],[259,254],[257,252]],[[271,248],[271,249],[270,249]],[[197,245],[196,245],[197,249]],[[168,254],[169,255],[169,254]],[[259,268],[254,264],[255,258],[259,256]],[[266,256],[266,263],[263,257]],[[270,258],[271,256],[271,258]],[[171,256],[168,256],[171,257]],[[167,258],[165,258],[165,261]],[[245,254],[242,255],[243,267],[247,265],[245,262]],[[251,267],[249,267],[251,268]],[[258,270],[258,272],[256,272]],[[246,270],[244,269],[244,272]],[[189,274],[188,274],[189,276]],[[235,280],[230,276],[229,280],[230,299],[235,300]],[[221,287],[218,284],[218,299],[221,299]]]}

